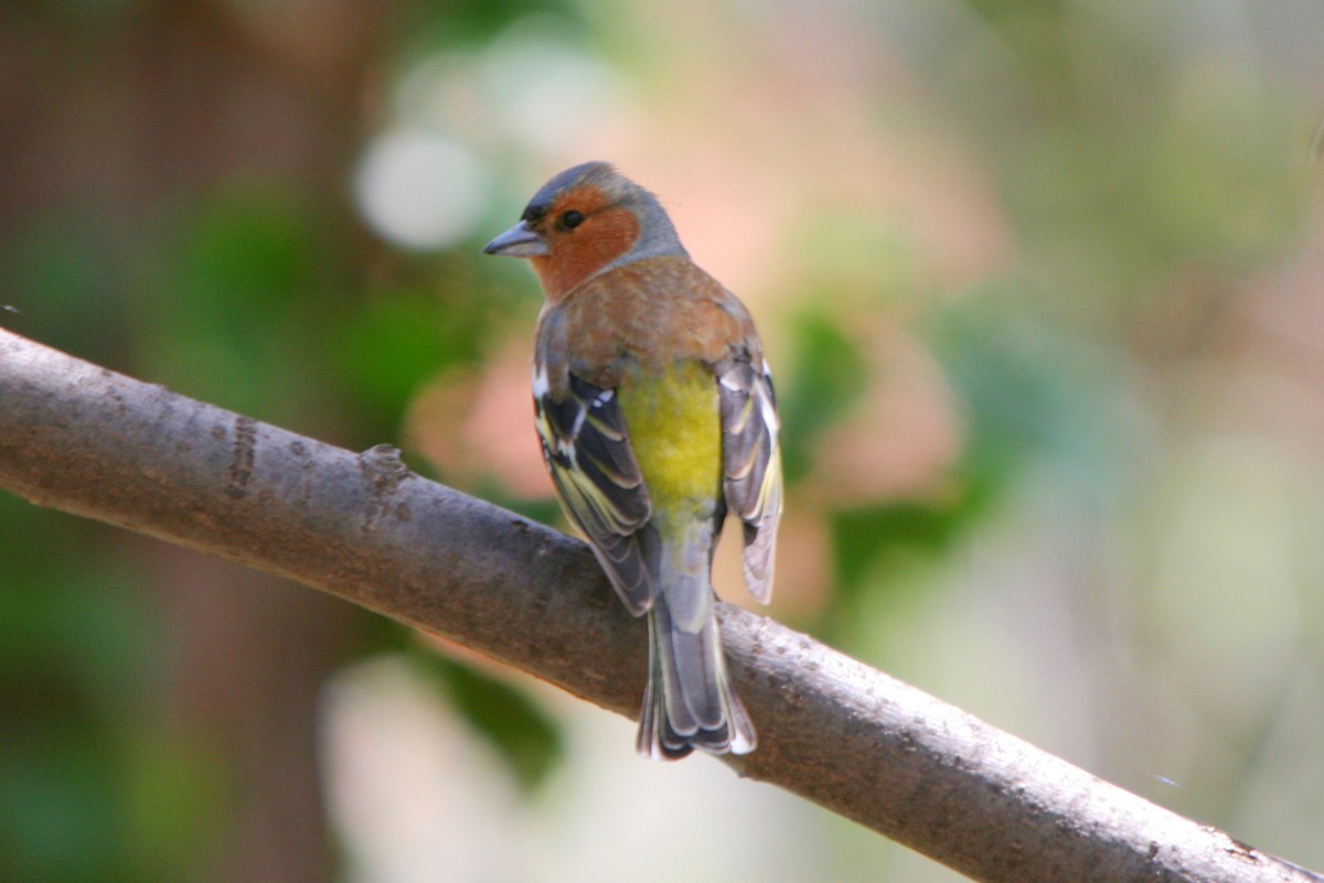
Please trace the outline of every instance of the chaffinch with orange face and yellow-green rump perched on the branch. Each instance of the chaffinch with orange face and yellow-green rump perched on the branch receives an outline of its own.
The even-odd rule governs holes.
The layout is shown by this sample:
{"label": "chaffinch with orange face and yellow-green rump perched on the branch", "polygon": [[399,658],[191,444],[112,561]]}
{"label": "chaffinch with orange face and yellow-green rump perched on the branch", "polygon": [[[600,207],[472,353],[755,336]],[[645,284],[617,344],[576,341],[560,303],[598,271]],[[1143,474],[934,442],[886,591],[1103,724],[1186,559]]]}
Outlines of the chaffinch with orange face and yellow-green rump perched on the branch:
{"label": "chaffinch with orange face and yellow-green rump perched on the branch", "polygon": [[752,752],[711,582],[731,513],[745,587],[772,596],[780,423],[749,311],[690,259],[658,198],[608,163],[553,176],[483,251],[528,259],[542,284],[543,460],[620,600],[647,617],[638,752]]}

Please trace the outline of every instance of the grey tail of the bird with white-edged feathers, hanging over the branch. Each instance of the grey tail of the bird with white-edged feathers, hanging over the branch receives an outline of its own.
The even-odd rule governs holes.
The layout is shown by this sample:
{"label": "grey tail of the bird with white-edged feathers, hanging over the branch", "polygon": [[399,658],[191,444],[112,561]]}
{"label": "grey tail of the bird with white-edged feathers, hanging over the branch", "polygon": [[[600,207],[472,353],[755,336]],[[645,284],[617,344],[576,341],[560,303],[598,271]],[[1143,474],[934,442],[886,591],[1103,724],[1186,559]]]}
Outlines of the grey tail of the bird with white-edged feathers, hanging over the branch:
{"label": "grey tail of the bird with white-edged feathers, hanging over the branch", "polygon": [[649,686],[637,747],[654,760],[685,757],[695,748],[744,755],[757,744],[731,689],[707,567],[700,572],[678,580],[673,574],[649,611]]}

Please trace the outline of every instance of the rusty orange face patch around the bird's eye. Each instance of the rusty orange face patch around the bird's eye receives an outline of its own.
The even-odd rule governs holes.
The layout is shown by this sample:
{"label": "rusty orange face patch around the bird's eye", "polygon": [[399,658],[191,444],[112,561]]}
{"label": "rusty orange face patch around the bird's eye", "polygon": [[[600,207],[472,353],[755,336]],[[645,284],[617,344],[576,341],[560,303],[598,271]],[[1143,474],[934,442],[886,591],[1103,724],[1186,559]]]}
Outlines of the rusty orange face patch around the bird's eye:
{"label": "rusty orange face patch around the bird's eye", "polygon": [[600,188],[585,185],[556,197],[530,226],[547,243],[548,254],[531,258],[543,291],[560,300],[592,274],[630,250],[639,221],[629,209],[612,204]]}

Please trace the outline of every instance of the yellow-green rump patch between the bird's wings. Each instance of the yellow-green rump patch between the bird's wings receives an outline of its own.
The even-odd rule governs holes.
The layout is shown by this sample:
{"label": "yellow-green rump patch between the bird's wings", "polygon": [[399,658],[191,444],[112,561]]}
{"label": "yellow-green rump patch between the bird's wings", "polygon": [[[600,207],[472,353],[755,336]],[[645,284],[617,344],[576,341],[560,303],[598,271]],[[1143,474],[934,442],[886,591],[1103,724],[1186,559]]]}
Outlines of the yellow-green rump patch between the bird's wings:
{"label": "yellow-green rump patch between the bird's wings", "polygon": [[654,513],[711,504],[722,489],[718,383],[699,362],[617,390]]}

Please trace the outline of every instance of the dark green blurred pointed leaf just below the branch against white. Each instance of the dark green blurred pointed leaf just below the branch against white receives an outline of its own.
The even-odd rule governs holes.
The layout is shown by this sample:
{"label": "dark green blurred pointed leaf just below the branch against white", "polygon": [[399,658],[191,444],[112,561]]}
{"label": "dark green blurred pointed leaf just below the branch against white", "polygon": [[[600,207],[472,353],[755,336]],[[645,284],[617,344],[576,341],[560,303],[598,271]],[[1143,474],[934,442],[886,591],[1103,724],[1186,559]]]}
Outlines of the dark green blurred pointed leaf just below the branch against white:
{"label": "dark green blurred pointed leaf just below the branch against white", "polygon": [[436,653],[418,650],[410,658],[498,751],[526,792],[547,779],[564,749],[556,722],[535,702],[504,681]]}

